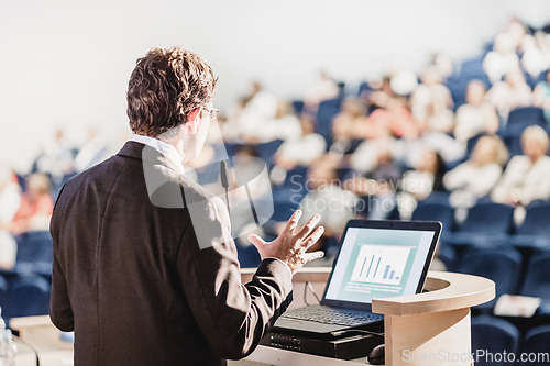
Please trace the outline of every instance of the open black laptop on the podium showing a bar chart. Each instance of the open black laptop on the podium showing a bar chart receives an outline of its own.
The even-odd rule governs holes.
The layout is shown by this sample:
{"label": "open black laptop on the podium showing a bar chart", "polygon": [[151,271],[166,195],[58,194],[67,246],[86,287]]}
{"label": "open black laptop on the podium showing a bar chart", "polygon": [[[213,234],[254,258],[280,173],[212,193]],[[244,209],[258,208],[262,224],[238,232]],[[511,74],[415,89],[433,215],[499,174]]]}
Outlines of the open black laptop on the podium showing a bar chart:
{"label": "open black laptop on the podium showing a bar chart", "polygon": [[272,332],[378,331],[384,315],[372,300],[420,293],[440,233],[440,222],[349,221],[321,303],[288,310]]}

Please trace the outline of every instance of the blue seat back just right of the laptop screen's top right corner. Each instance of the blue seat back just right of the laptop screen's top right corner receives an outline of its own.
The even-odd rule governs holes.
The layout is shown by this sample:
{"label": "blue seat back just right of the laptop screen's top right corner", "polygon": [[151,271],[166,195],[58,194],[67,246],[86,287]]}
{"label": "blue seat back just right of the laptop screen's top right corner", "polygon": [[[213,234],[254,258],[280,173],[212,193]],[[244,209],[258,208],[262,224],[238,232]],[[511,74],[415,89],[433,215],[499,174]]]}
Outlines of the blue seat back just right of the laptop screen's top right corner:
{"label": "blue seat back just right of the laptop screen's top right corner", "polygon": [[447,239],[453,245],[488,247],[506,244],[513,230],[514,208],[480,203],[468,211],[466,220]]}

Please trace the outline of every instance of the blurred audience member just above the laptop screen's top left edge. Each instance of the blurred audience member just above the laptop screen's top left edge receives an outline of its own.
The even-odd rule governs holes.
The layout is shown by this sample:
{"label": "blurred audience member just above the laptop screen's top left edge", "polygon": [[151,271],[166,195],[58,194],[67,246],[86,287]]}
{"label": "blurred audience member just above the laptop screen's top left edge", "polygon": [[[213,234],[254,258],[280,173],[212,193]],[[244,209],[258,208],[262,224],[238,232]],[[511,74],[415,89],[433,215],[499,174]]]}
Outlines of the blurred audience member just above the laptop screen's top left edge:
{"label": "blurred audience member just above the laptop screen's top left edge", "polygon": [[355,176],[345,181],[345,189],[366,198],[366,207],[361,211],[367,211],[372,220],[383,220],[392,213],[396,204],[396,190],[402,179],[402,169],[395,164],[389,149],[383,149],[377,156],[377,165],[374,170],[365,176]]}

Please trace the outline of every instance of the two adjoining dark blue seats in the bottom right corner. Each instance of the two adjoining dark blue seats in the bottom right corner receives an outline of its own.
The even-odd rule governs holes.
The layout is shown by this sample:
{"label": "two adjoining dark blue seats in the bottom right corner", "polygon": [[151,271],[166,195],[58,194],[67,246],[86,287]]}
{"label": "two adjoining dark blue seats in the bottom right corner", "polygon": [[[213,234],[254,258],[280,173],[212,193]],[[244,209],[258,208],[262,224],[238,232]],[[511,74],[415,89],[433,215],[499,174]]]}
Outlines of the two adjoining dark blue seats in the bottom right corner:
{"label": "two adjoining dark blue seats in the bottom right corner", "polygon": [[520,331],[504,319],[487,315],[472,318],[472,355],[476,366],[549,365],[549,344],[548,324],[535,326],[521,336]]}

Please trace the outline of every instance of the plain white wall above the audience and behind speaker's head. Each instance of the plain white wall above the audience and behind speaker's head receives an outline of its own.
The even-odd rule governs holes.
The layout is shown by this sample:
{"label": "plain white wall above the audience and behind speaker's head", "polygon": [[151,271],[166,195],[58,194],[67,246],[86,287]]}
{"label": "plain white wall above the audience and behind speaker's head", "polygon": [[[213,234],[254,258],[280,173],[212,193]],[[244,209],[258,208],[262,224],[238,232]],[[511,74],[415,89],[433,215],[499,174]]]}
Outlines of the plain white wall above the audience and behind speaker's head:
{"label": "plain white wall above the audience and behind speaker's head", "polygon": [[356,84],[388,63],[415,70],[430,51],[476,55],[514,14],[541,25],[544,0],[0,0],[0,159],[29,166],[64,126],[127,131],[125,88],[153,46],[201,54],[220,77],[216,104],[253,79],[300,97],[319,69]]}

